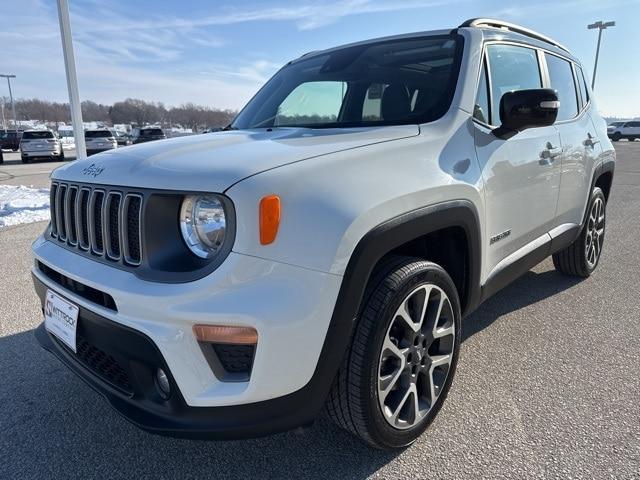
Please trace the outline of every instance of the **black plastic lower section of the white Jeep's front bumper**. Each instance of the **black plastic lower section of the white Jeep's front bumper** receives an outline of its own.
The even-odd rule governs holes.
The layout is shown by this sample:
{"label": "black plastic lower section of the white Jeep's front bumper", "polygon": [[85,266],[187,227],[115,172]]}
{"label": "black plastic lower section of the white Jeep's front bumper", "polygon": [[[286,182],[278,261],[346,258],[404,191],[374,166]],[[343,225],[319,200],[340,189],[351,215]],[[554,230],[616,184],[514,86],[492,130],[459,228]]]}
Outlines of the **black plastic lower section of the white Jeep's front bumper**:
{"label": "black plastic lower section of the white Jeep's front bumper", "polygon": [[[43,300],[47,287],[35,275],[33,280]],[[78,349],[80,355],[48,333],[44,324],[36,329],[36,339],[125,419],[148,432],[182,438],[257,437],[307,425],[322,407],[318,394],[310,389],[248,405],[191,407],[149,337],[84,307],[78,318],[78,337],[89,345]],[[167,372],[172,387],[167,400],[155,388],[158,367]]]}

